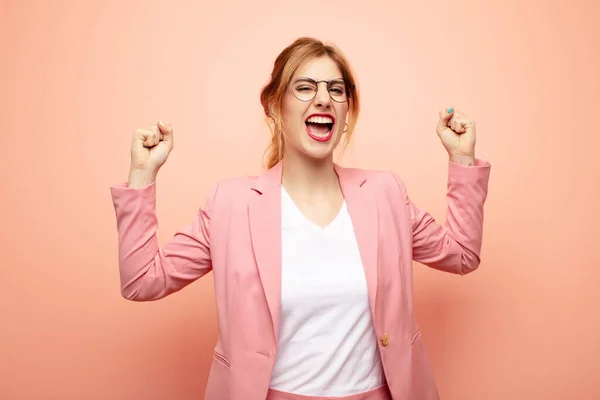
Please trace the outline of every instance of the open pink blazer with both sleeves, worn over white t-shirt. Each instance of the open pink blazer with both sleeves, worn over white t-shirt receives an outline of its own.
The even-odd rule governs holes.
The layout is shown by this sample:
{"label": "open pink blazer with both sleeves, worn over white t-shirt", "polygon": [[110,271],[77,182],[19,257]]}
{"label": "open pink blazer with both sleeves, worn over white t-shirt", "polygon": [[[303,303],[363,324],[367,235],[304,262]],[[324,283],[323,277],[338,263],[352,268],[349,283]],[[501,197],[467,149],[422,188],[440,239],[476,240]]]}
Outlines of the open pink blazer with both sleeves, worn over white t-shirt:
{"label": "open pink blazer with both sleeves, worn over white t-shirt", "polygon": [[[438,399],[413,311],[412,261],[455,274],[480,263],[490,164],[448,168],[447,220],[440,225],[412,203],[394,173],[335,166],[395,400]],[[126,299],[160,299],[213,272],[219,336],[206,400],[264,400],[269,389],[279,327],[281,171],[279,163],[258,177],[218,182],[191,225],[162,248],[156,184],[111,186]]]}

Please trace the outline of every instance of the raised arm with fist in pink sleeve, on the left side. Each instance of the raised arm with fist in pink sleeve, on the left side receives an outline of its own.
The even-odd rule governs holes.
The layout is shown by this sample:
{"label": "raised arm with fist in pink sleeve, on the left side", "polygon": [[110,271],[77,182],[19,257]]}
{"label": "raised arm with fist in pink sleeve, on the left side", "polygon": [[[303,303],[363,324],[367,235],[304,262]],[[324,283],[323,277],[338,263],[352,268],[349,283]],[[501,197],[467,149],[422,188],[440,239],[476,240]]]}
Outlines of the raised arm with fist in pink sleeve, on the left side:
{"label": "raised arm with fist in pink sleeve, on the left side", "polygon": [[190,226],[178,231],[164,247],[159,246],[155,180],[172,148],[169,124],[136,130],[129,180],[110,188],[117,221],[121,293],[129,300],[161,299],[212,268],[210,223],[217,185]]}

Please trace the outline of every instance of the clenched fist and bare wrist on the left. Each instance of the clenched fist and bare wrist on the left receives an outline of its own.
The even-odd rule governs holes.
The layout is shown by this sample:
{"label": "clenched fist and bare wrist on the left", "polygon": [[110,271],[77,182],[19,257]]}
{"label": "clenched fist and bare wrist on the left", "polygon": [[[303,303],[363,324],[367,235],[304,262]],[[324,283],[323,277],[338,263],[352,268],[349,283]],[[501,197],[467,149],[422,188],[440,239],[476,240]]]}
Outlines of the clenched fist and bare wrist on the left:
{"label": "clenched fist and bare wrist on the left", "polygon": [[173,128],[159,121],[156,126],[136,129],[131,141],[130,186],[152,183],[173,150]]}

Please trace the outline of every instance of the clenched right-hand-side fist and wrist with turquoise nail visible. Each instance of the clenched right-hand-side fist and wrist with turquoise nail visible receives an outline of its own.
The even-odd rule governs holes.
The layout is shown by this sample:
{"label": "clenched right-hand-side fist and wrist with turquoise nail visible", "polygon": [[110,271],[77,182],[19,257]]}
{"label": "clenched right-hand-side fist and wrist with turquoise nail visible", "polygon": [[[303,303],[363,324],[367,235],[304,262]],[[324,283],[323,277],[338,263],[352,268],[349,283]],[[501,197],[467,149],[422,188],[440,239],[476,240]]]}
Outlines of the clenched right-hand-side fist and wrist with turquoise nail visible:
{"label": "clenched right-hand-side fist and wrist with turquoise nail visible", "polygon": [[475,121],[449,108],[440,111],[436,132],[450,160],[465,165],[475,163]]}

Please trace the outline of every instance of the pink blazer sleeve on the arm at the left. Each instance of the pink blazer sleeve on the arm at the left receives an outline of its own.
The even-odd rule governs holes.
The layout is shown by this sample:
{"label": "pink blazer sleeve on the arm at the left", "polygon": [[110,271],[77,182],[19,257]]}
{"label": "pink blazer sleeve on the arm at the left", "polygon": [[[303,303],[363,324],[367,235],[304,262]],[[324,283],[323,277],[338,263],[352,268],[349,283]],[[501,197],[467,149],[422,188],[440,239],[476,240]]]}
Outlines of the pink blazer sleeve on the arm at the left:
{"label": "pink blazer sleeve on the arm at the left", "polygon": [[164,245],[157,239],[156,182],[144,188],[110,187],[116,214],[121,294],[133,301],[158,300],[212,269],[210,224],[215,185],[191,224]]}

